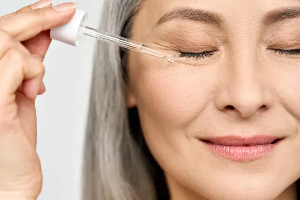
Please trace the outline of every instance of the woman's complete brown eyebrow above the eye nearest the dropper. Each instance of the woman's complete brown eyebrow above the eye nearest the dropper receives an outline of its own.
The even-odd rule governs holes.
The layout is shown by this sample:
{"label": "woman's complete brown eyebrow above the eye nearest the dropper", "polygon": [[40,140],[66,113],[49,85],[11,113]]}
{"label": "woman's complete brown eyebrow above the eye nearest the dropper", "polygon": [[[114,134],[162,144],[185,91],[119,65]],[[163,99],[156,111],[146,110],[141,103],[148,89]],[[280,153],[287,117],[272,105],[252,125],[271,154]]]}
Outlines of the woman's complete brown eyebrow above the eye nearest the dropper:
{"label": "woman's complete brown eyebrow above the eye nearest the dropper", "polygon": [[202,9],[180,7],[164,14],[156,22],[155,26],[175,19],[200,21],[202,23],[216,25],[218,27],[223,24],[222,18],[216,13]]}

